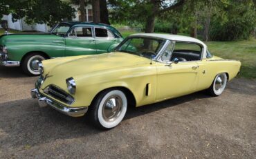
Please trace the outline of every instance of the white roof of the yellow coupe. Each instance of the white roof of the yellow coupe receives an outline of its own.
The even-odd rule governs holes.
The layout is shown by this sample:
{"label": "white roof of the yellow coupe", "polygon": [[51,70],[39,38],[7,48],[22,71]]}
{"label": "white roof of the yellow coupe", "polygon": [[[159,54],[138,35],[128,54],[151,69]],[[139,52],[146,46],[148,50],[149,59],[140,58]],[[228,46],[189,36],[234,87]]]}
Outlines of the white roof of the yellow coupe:
{"label": "white roof of the yellow coupe", "polygon": [[202,44],[203,46],[205,46],[205,44],[196,38],[193,37],[186,37],[186,36],[182,36],[182,35],[168,35],[168,34],[156,34],[156,33],[138,33],[138,34],[133,34],[131,36],[145,36],[145,37],[158,37],[158,38],[162,38],[162,39],[169,39],[172,41],[188,41],[188,42],[196,42],[199,44]]}

